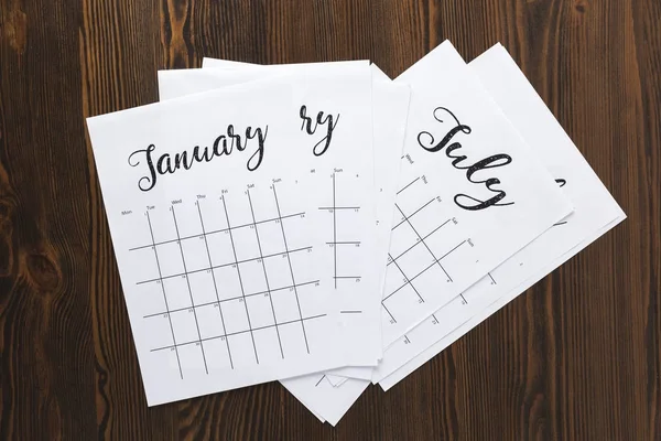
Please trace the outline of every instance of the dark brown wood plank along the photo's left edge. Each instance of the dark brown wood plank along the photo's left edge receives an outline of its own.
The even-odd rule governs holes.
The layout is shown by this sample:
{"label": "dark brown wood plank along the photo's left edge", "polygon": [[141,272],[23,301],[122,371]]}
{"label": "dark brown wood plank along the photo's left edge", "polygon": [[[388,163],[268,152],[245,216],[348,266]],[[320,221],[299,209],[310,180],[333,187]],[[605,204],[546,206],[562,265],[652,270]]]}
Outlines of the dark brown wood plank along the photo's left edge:
{"label": "dark brown wood plank along the photo's left edge", "polygon": [[96,431],[78,17],[0,2],[3,439]]}

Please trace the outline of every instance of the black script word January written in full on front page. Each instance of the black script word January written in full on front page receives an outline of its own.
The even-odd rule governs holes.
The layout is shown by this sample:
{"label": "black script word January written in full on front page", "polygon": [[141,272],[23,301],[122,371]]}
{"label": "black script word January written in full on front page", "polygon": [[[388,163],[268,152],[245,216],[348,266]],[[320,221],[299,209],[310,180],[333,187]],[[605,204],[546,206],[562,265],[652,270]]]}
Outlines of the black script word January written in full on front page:
{"label": "black script word January written in full on front page", "polygon": [[174,155],[163,153],[155,160],[154,165],[156,146],[150,144],[147,149],[136,150],[129,154],[128,162],[131,166],[138,166],[141,164],[140,155],[144,155],[149,174],[140,178],[138,187],[143,192],[149,192],[156,185],[156,179],[160,174],[173,174],[182,169],[189,170],[195,162],[209,162],[216,157],[230,154],[235,147],[241,152],[248,148],[252,139],[257,138],[257,149],[246,163],[248,171],[253,172],[259,168],[264,157],[264,142],[268,132],[269,126],[266,126],[263,130],[260,127],[253,130],[249,126],[246,128],[246,136],[242,139],[241,135],[235,133],[234,126],[229,125],[224,135],[216,137],[210,149],[209,147],[201,148],[199,146],[195,146],[192,152],[184,150],[183,152],[174,153]]}

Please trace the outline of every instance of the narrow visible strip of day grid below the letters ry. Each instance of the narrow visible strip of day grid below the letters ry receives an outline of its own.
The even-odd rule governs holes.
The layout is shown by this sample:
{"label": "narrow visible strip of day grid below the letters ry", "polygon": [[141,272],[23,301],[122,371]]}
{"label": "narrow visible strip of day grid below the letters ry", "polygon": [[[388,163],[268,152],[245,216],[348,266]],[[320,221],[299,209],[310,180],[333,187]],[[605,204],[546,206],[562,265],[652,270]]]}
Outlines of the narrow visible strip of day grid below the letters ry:
{"label": "narrow visible strip of day grid below the letters ry", "polygon": [[[358,178],[358,175],[356,175]],[[344,179],[344,185],[339,184],[339,181]],[[351,214],[360,212],[360,205],[346,203],[345,197],[350,197],[350,192],[340,192],[339,189],[350,189],[350,178],[348,173],[345,173],[342,169],[336,169],[330,174],[330,186],[332,186],[332,203],[325,206],[318,207],[319,211],[326,212],[332,215],[330,223],[333,225],[332,240],[326,241],[326,245],[333,248],[333,280],[334,287],[337,289],[338,281],[360,281],[361,276],[355,272],[345,272],[345,265],[342,268],[343,261],[350,261],[348,259],[347,248],[360,247],[360,240],[356,240],[351,237],[351,225],[354,219],[350,217]],[[353,266],[355,267],[355,266]],[[357,313],[359,311],[348,311]]]}

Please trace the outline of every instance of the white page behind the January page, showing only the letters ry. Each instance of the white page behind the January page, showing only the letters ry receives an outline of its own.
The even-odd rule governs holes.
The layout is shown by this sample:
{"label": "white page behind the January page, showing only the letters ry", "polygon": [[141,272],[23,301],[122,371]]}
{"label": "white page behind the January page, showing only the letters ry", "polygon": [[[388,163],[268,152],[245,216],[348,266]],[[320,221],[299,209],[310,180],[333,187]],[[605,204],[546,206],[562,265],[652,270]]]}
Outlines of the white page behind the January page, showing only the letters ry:
{"label": "white page behind the January page, showing only the letters ry", "polygon": [[[344,340],[354,340],[349,351],[364,347],[360,365],[376,365],[381,356],[379,332],[379,273],[378,268],[365,256],[375,252],[376,232],[373,228],[375,205],[373,165],[371,154],[371,72],[367,62],[330,63],[325,68],[317,65],[269,66],[252,68],[237,74],[236,69],[185,69],[163,72],[159,75],[160,95],[163,98],[177,97],[191,92],[202,93],[219,87],[254,79],[258,77],[280,77],[295,73],[292,79],[301,85],[297,99],[302,112],[307,112],[310,123],[303,121],[303,133],[315,129],[328,130],[330,123],[339,125],[339,131],[329,130],[326,137],[319,131],[311,135],[321,139],[315,147],[323,149],[322,141],[330,140],[342,144],[342,154],[326,160],[325,168],[318,162],[311,165],[307,185],[318,197],[317,209],[308,218],[315,230],[323,236],[319,252],[323,261],[317,261],[325,270],[322,280],[329,279],[334,288],[334,301],[340,305]],[[256,73],[256,74],[253,74]],[[275,75],[275,76],[274,76]],[[342,89],[342,90],[339,90]],[[322,128],[332,112],[326,111],[318,120],[313,108],[336,109],[336,120]],[[303,114],[301,114],[303,116]],[[366,122],[369,120],[369,123]],[[338,139],[338,137],[342,137]],[[356,149],[356,146],[362,148]],[[337,149],[337,148],[335,148]],[[319,150],[322,151],[322,150]],[[324,157],[327,157],[325,153]],[[330,166],[332,165],[332,166]],[[347,272],[348,271],[348,272]],[[350,272],[350,273],[349,273]],[[354,352],[355,353],[355,352]]]}

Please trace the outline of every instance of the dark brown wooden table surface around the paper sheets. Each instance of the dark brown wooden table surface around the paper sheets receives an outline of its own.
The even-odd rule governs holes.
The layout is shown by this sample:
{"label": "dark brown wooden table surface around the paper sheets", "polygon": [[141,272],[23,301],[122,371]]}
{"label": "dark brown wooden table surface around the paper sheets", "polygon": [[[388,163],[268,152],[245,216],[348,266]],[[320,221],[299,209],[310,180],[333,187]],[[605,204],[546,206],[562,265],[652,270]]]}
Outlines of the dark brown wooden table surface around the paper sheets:
{"label": "dark brown wooden table surface around the paper sheets", "polygon": [[[0,439],[661,439],[661,1],[0,0]],[[85,117],[203,56],[500,41],[629,218],[333,429],[271,383],[148,408]]]}

